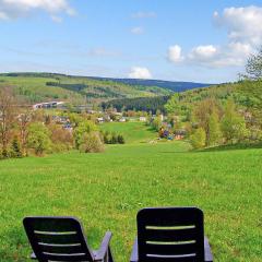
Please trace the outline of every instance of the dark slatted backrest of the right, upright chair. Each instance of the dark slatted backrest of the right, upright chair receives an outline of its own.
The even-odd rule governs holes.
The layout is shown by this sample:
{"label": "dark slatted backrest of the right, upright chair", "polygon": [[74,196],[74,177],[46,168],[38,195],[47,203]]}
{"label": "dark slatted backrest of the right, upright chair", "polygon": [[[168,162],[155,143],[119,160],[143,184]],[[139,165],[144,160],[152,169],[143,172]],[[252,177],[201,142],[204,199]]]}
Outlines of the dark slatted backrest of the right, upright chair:
{"label": "dark slatted backrest of the right, upright chair", "polygon": [[196,207],[141,210],[138,245],[142,262],[204,262],[203,212]]}

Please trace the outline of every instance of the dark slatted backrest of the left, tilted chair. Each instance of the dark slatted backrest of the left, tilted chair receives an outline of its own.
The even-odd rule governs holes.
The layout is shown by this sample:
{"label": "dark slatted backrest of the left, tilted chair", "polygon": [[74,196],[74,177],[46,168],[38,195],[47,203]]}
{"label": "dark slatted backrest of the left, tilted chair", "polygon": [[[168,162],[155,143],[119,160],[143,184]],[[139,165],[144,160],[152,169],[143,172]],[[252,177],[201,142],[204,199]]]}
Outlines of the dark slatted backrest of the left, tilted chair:
{"label": "dark slatted backrest of the left, tilted chair", "polygon": [[39,262],[94,261],[76,218],[25,217],[23,224]]}

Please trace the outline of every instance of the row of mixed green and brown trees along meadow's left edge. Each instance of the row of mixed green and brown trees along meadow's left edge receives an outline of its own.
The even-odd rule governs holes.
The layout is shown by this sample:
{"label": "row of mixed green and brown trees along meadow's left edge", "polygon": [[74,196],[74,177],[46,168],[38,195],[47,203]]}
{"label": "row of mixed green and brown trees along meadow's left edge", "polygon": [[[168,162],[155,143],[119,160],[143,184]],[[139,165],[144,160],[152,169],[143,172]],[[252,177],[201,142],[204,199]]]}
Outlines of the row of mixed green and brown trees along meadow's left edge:
{"label": "row of mixed green and brown trees along meadow's left edge", "polygon": [[[60,120],[58,120],[60,119]],[[79,150],[103,152],[105,143],[124,143],[121,134],[103,133],[88,114],[33,110],[11,86],[0,88],[0,158]]]}

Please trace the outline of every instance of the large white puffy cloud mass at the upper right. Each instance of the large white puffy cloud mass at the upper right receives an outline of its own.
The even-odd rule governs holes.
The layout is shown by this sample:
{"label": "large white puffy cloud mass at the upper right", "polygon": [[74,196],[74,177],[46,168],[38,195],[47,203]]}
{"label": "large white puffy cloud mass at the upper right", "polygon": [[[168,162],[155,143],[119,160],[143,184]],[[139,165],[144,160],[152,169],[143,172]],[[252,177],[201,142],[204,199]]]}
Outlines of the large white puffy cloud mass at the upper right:
{"label": "large white puffy cloud mass at the upper right", "polygon": [[200,45],[184,57],[181,56],[179,46],[172,46],[168,49],[169,60],[206,68],[241,67],[250,53],[262,45],[262,8],[227,8],[222,14],[214,12],[214,20],[216,25],[227,29],[227,44]]}

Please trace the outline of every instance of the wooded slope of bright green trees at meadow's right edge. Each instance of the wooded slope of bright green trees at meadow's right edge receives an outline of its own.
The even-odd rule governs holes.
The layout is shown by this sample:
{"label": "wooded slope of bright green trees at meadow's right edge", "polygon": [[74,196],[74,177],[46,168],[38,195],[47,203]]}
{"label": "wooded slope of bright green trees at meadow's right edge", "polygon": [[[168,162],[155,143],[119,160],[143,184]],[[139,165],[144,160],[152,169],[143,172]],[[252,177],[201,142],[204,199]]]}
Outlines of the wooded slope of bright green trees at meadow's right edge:
{"label": "wooded slope of bright green trees at meadow's right edge", "polygon": [[194,148],[262,143],[262,48],[237,83],[177,93],[165,108]]}

